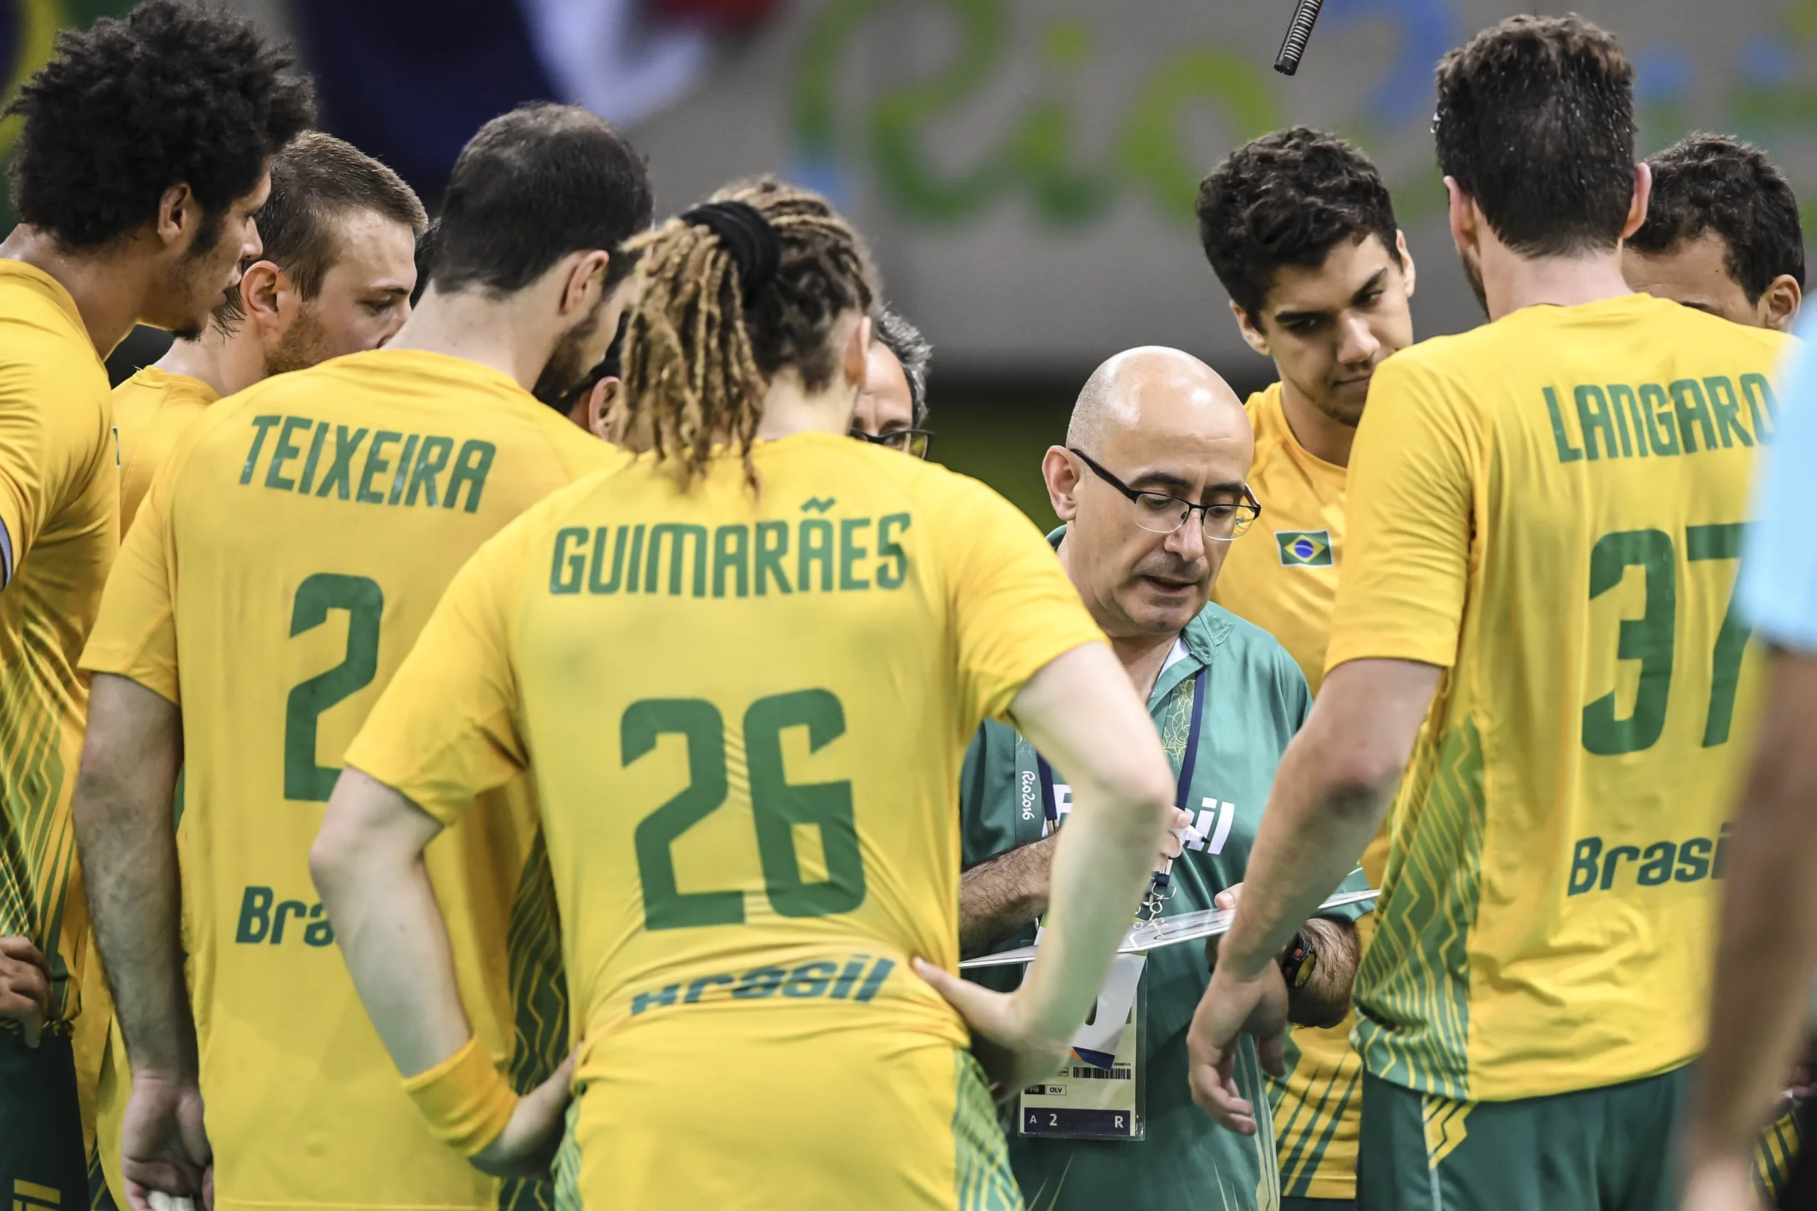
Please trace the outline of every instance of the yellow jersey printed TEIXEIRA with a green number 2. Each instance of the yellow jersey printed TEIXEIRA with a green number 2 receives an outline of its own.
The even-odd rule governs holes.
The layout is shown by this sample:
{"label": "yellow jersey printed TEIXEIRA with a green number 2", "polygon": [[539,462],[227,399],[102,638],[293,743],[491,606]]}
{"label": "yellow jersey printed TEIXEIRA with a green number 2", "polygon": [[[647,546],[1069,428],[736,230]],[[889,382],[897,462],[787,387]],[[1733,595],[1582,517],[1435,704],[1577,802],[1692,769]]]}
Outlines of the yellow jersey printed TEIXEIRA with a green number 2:
{"label": "yellow jersey printed TEIXEIRA with a green number 2", "polygon": [[[211,405],[153,480],[84,666],[184,709],[184,942],[218,1207],[494,1204],[405,1096],[309,846],[347,742],[462,562],[621,458],[500,371],[378,349]],[[525,1087],[569,1046],[527,780],[427,864],[467,1015]]]}

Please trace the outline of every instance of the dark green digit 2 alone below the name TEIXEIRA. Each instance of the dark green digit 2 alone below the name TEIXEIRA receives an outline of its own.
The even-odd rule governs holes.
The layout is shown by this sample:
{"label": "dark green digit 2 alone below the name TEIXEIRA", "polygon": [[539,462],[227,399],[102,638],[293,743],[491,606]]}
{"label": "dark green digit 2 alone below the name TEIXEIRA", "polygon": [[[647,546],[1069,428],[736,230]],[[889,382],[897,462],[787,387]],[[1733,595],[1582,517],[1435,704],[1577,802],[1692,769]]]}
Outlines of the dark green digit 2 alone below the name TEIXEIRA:
{"label": "dark green digit 2 alone below the name TEIXEIRA", "polygon": [[316,764],[316,724],[323,711],[372,684],[385,595],[365,576],[316,573],[296,585],[291,636],[320,627],[331,609],[347,611],[347,656],[327,673],[293,686],[283,709],[283,796],[316,804],[329,800],[340,776],[340,766]]}

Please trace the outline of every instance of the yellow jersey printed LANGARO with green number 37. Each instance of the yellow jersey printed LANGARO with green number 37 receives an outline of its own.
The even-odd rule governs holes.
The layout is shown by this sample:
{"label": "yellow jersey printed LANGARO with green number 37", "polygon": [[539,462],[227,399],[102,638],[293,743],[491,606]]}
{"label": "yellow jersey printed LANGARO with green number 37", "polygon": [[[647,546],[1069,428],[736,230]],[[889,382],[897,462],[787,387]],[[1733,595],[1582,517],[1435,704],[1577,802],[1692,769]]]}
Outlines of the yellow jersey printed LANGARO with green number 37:
{"label": "yellow jersey printed LANGARO with green number 37", "polygon": [[1786,345],[1628,295],[1375,371],[1326,669],[1445,669],[1357,978],[1383,1080],[1526,1098],[1703,1047],[1757,660],[1730,598]]}

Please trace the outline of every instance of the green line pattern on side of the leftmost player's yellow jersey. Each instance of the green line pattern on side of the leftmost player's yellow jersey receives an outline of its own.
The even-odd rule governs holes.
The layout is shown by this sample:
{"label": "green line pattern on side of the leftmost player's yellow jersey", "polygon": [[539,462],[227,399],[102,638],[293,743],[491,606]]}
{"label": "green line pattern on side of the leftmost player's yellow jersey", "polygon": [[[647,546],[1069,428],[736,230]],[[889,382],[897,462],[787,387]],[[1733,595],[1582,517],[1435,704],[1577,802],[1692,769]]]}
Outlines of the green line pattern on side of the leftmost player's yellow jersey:
{"label": "green line pattern on side of the leftmost player's yellow jersey", "polygon": [[67,818],[56,818],[65,776],[64,720],[33,693],[33,646],[25,636],[15,676],[0,678],[0,936],[25,936],[44,949],[51,960],[51,1016],[67,1020],[80,1006],[69,980],[74,955],[58,949],[58,935],[76,835]]}

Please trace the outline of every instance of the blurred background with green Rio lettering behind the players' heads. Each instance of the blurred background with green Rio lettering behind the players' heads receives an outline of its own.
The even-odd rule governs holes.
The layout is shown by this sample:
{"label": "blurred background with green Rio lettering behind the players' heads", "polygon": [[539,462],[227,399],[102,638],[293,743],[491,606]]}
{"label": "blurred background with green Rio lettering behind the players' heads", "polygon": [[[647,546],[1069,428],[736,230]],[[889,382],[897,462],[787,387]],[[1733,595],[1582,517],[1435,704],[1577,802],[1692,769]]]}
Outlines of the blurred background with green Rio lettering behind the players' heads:
{"label": "blurred background with green Rio lettering behind the players' heads", "polygon": [[[4,91],[113,0],[0,0]],[[494,113],[556,98],[625,125],[658,211],[781,173],[870,238],[936,347],[936,455],[1038,511],[1028,453],[1136,344],[1266,382],[1199,253],[1192,202],[1232,145],[1308,124],[1377,158],[1421,265],[1421,336],[1481,320],[1432,158],[1432,69],[1508,0],[1326,0],[1301,71],[1290,0],[233,0],[293,38],[323,124],[432,200]],[[1572,0],[1639,65],[1641,149],[1761,144],[1817,216],[1817,0]],[[13,135],[0,125],[0,149]],[[1039,444],[1030,433],[1039,429]],[[990,465],[979,464],[985,460]],[[1018,471],[1007,471],[1016,460]],[[998,465],[1003,462],[1003,465]],[[1038,511],[1038,516],[1041,513]]]}

